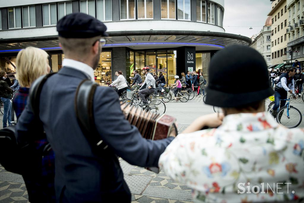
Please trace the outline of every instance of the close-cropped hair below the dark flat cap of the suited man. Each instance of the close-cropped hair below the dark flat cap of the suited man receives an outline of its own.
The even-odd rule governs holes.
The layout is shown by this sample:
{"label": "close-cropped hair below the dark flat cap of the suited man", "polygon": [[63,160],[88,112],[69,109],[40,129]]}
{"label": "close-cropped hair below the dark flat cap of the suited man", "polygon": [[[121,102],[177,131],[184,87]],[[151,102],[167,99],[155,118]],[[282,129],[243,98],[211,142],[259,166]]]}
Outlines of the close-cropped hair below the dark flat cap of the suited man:
{"label": "close-cropped hair below the dark flat cap of the suited man", "polygon": [[84,59],[90,53],[90,49],[102,36],[91,38],[64,38],[58,37],[64,54]]}

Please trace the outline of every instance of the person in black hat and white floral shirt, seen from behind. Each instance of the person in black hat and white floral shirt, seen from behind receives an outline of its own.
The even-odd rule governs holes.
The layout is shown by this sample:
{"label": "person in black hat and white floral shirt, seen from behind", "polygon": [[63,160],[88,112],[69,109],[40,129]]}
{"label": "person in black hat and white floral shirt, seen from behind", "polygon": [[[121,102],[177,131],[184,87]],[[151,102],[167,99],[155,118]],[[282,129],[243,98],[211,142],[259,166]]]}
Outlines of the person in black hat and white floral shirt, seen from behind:
{"label": "person in black hat and white floral shirt, seen from behind", "polygon": [[[248,78],[235,76],[250,75],[252,69],[258,83],[240,85]],[[232,45],[212,57],[206,104],[221,107],[224,115],[198,117],[159,159],[166,175],[192,189],[194,202],[296,202],[304,197],[304,131],[282,127],[265,112],[265,99],[274,93],[268,81],[263,56],[250,47]],[[237,87],[237,94],[230,87]]]}

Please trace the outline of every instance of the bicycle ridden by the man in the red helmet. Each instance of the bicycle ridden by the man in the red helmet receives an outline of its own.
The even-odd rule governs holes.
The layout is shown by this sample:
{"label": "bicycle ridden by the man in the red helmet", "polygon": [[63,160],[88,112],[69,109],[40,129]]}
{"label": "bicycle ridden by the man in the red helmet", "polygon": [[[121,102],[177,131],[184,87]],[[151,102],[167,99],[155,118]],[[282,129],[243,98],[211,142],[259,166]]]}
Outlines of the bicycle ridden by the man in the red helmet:
{"label": "bicycle ridden by the man in the red helmet", "polygon": [[166,112],[166,105],[160,99],[147,98],[147,105],[142,105],[141,99],[138,97],[138,91],[133,91],[132,99],[123,100],[125,103],[129,103],[130,106],[140,106],[143,110],[150,111],[152,113],[158,113],[160,115]]}

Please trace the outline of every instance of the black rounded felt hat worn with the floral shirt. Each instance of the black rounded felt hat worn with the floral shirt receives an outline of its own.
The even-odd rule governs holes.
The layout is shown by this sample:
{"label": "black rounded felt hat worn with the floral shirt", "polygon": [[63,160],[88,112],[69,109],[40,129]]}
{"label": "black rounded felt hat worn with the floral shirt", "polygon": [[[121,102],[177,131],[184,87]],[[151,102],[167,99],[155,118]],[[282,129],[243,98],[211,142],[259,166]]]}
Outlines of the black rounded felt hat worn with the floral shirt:
{"label": "black rounded felt hat worn with the floral shirt", "polygon": [[206,104],[233,108],[272,94],[263,56],[253,48],[233,45],[216,52],[209,64]]}

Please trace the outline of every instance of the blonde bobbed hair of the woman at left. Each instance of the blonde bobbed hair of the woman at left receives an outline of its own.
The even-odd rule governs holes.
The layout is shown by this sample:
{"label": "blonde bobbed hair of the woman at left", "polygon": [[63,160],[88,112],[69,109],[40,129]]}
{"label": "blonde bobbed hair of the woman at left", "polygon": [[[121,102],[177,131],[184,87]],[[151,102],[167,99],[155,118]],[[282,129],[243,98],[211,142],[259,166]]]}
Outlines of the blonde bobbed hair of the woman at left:
{"label": "blonde bobbed hair of the woman at left", "polygon": [[38,77],[47,74],[49,55],[40,48],[26,47],[16,59],[16,78],[22,87],[31,86]]}

